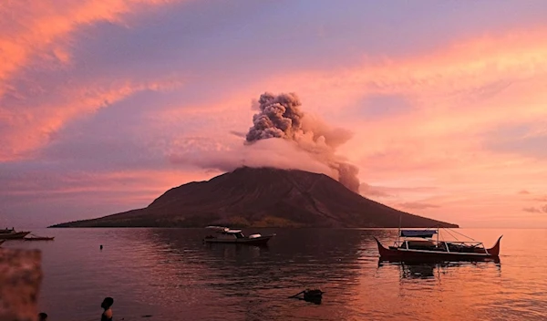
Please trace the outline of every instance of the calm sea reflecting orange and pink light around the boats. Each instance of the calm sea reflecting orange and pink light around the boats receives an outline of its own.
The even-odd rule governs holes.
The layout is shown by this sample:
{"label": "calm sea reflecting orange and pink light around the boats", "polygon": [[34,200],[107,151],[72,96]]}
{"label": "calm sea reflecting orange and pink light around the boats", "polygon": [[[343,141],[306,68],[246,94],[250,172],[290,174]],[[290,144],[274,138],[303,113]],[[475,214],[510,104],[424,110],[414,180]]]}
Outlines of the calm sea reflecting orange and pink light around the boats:
{"label": "calm sea reflecting orange and pink light around the boats", "polygon": [[[193,229],[51,229],[35,232],[54,242],[4,246],[42,250],[51,320],[98,320],[105,296],[117,320],[547,319],[547,230],[459,230],[488,246],[503,233],[501,263],[421,265],[378,263],[372,236],[394,230],[253,231],[277,236],[259,248]],[[321,305],[287,298],[304,288],[325,291]]]}

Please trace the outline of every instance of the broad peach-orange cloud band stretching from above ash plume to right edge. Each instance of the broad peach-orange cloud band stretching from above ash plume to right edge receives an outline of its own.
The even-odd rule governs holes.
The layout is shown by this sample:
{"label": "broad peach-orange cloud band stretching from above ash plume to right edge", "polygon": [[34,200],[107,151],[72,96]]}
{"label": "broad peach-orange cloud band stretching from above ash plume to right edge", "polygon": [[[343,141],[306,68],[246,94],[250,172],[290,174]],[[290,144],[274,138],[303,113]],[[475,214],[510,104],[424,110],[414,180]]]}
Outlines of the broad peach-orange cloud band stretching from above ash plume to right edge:
{"label": "broad peach-orange cloud band stretching from above ash plume to right edge", "polygon": [[373,94],[405,95],[428,112],[451,109],[453,100],[460,99],[462,110],[470,102],[495,96],[519,81],[544,77],[545,36],[547,29],[471,38],[427,56],[365,57],[358,66],[269,75],[261,85],[272,91],[296,91],[307,104],[325,112],[332,103],[347,108]]}

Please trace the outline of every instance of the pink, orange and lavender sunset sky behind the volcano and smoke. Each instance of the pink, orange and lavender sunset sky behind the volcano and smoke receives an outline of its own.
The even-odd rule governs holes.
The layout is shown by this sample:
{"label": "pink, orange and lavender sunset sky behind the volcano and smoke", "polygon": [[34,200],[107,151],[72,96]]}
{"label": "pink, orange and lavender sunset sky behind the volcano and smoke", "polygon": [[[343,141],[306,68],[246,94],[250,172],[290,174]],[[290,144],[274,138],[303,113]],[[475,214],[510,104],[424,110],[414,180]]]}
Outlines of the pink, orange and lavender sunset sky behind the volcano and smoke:
{"label": "pink, orange and lavender sunset sky behind the volcano and smoke", "polygon": [[545,16],[542,0],[2,0],[0,226],[220,174],[199,160],[241,148],[267,91],[351,131],[336,153],[372,200],[547,228]]}

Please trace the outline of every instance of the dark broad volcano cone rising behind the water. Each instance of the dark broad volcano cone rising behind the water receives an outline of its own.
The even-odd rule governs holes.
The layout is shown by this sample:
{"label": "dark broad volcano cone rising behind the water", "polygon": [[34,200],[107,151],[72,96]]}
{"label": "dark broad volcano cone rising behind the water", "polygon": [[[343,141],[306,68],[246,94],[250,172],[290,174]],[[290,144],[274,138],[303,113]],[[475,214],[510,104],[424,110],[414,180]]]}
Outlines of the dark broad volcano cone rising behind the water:
{"label": "dark broad volcano cone rising behind the water", "polygon": [[170,189],[148,207],[53,227],[458,227],[362,197],[324,174],[243,167]]}

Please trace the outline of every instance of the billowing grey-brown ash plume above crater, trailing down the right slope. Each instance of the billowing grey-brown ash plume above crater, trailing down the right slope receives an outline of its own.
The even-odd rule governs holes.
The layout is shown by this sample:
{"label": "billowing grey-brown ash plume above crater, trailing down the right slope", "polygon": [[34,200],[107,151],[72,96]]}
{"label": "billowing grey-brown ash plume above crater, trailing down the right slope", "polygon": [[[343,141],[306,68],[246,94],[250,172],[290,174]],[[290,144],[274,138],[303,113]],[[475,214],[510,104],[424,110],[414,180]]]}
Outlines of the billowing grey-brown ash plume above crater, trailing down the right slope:
{"label": "billowing grey-brown ash plume above crater, trailing down the right slope", "polygon": [[[264,93],[258,99],[259,112],[253,116],[253,127],[245,136],[245,144],[258,140],[284,139],[294,143],[295,150],[304,151],[311,158],[326,165],[331,175],[353,192],[359,191],[359,169],[335,154],[336,148],[351,139],[346,129],[333,129],[323,121],[304,114],[302,103],[294,93],[274,95]],[[275,152],[276,150],[272,150]],[[267,151],[266,151],[267,152]],[[294,161],[298,154],[294,152]],[[291,158],[291,155],[288,155]]]}

